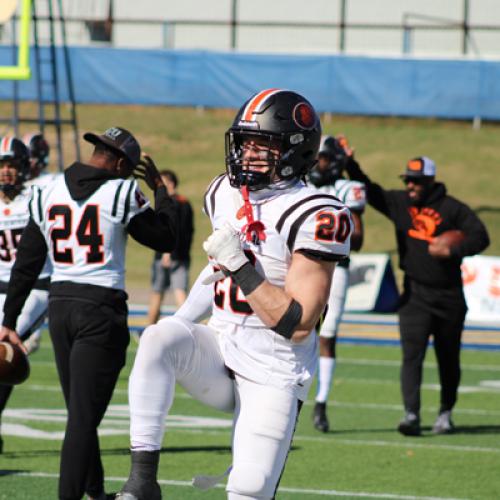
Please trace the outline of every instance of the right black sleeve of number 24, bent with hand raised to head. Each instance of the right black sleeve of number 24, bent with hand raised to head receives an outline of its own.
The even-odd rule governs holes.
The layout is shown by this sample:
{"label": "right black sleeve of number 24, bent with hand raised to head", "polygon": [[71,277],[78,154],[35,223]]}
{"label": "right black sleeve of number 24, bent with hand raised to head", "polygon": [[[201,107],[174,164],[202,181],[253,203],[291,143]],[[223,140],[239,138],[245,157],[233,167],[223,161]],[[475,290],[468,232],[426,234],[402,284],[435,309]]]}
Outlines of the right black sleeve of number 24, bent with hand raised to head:
{"label": "right black sleeve of number 24, bent with hand raised to head", "polygon": [[157,252],[175,248],[178,228],[178,207],[165,187],[155,191],[155,209],[147,209],[133,217],[127,231],[134,240]]}

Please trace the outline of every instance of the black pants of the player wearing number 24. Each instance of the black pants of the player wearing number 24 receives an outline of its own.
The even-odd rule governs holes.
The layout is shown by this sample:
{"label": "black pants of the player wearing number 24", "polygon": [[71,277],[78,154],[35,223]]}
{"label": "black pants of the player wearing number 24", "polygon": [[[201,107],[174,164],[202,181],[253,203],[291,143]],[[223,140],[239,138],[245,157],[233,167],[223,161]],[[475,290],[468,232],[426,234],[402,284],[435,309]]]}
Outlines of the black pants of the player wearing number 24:
{"label": "black pants of the player wearing number 24", "polygon": [[59,498],[98,496],[104,488],[97,427],[125,365],[126,303],[103,305],[51,297],[49,331],[68,422],[61,451]]}

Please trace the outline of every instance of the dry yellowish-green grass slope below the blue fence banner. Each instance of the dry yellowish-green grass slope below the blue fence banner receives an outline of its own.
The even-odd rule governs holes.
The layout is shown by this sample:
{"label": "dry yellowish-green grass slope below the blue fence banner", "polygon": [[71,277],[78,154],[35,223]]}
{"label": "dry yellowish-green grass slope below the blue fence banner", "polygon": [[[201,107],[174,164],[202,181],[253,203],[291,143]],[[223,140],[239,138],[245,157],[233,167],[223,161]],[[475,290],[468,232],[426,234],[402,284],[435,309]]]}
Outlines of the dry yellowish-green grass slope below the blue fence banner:
{"label": "dry yellowish-green grass slope below the blue fence banner", "polygon": [[[23,108],[30,110],[29,105],[23,105],[22,112]],[[0,111],[10,113],[10,108],[0,103]],[[180,192],[192,201],[195,213],[192,280],[205,265],[201,243],[210,233],[208,219],[201,211],[203,194],[209,181],[225,169],[224,132],[234,113],[234,110],[160,106],[78,108],[81,132],[103,131],[111,125],[128,128],[159,168],[171,168],[179,174]],[[363,169],[387,188],[402,187],[398,174],[409,158],[420,155],[433,158],[438,180],[446,183],[453,196],[475,209],[487,225],[492,243],[485,254],[500,255],[498,124],[484,123],[480,130],[473,130],[470,122],[329,115],[322,117],[322,122],[325,133],[344,133],[348,137]],[[53,136],[49,135],[49,139],[53,143]],[[64,140],[65,159],[70,163],[72,134],[66,132]],[[91,146],[82,142],[84,158],[90,151]],[[362,251],[390,252],[395,256],[392,224],[371,208],[366,210],[364,219]],[[127,261],[129,288],[149,286],[150,261],[151,251],[131,241]]]}

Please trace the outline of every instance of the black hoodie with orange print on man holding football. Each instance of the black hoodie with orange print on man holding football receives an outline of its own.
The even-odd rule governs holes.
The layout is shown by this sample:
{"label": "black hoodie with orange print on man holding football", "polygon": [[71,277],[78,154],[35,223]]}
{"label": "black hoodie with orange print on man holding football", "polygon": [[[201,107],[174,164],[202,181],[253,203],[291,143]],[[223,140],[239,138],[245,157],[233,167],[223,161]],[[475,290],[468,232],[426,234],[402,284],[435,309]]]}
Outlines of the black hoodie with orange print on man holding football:
{"label": "black hoodie with orange print on man holding football", "polygon": [[[490,243],[484,224],[464,203],[446,194],[435,183],[422,206],[413,206],[404,190],[385,190],[372,182],[358,163],[350,160],[349,177],[366,186],[368,203],[388,217],[396,230],[399,265],[406,278],[434,288],[462,287],[462,258],[482,252]],[[429,240],[450,229],[464,232],[465,239],[452,247],[448,259],[429,254]]]}

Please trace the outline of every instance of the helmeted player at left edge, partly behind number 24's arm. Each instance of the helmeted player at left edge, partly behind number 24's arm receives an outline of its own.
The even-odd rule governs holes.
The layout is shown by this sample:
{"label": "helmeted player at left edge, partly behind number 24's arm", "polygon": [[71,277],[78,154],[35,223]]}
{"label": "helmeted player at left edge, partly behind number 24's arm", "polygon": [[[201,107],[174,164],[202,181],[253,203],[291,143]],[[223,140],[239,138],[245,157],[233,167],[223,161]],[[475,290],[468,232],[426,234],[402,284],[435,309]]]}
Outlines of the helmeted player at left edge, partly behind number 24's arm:
{"label": "helmeted player at left edge, partly behind number 24's arm", "polygon": [[[15,137],[0,138],[0,310],[3,310],[7,287],[21,234],[28,224],[31,190],[24,181],[29,173],[26,146]],[[45,268],[38,276],[18,320],[21,339],[29,338],[47,313],[49,273]],[[0,312],[3,319],[3,312]],[[0,420],[12,393],[12,386],[0,385]],[[0,453],[3,442],[0,437]]]}

